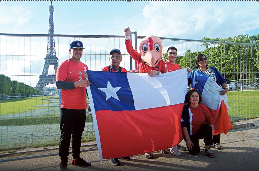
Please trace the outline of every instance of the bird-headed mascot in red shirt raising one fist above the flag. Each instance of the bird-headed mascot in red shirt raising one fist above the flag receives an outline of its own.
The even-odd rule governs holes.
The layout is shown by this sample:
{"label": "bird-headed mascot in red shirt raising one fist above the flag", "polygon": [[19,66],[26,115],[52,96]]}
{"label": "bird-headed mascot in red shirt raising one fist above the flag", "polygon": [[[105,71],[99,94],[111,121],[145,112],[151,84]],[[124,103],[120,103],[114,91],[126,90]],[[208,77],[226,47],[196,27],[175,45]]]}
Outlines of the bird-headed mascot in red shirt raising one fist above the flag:
{"label": "bird-headed mascot in red shirt raising one fist above the flag", "polygon": [[[129,28],[127,29],[129,30]],[[125,29],[125,34],[126,32]],[[156,70],[161,73],[168,72],[166,62],[161,59],[162,41],[159,37],[145,37],[139,46],[140,54],[133,49],[129,36],[127,35],[125,45],[129,55],[138,63],[139,73],[148,73],[151,70]]]}

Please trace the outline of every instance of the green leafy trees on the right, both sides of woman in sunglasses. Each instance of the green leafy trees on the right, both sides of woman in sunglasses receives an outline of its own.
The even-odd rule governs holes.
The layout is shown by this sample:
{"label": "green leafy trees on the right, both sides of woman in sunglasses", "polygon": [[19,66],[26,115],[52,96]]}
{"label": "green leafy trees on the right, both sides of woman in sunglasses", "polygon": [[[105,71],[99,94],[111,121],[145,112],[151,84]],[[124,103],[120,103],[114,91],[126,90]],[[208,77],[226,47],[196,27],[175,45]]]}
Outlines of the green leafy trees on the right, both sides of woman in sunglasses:
{"label": "green leafy trees on the right, both sides of woman in sunglasses", "polygon": [[[248,36],[238,35],[226,39],[204,37],[202,40],[258,44],[259,34]],[[227,80],[255,79],[258,78],[259,69],[259,47],[255,45],[228,44],[203,42],[203,51],[192,52],[188,49],[183,56],[176,58],[176,63],[181,68],[190,67],[194,69],[197,54],[205,54],[208,58],[208,66],[216,67]],[[162,59],[167,60],[166,53]]]}

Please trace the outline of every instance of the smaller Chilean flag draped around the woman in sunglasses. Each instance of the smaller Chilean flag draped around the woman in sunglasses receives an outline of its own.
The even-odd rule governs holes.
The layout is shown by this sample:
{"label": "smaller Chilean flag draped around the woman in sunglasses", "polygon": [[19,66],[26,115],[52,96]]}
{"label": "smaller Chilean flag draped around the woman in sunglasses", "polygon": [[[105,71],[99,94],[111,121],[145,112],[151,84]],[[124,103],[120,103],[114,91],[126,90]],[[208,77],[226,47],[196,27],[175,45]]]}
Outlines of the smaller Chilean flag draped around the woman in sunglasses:
{"label": "smaller Chilean flag draped around the woman in sunglasses", "polygon": [[204,104],[210,111],[215,120],[214,135],[222,132],[225,135],[232,129],[232,124],[228,116],[227,95],[220,95],[222,88],[213,80],[212,77],[200,76],[198,72],[191,74],[192,87],[199,90],[202,96],[201,104]]}

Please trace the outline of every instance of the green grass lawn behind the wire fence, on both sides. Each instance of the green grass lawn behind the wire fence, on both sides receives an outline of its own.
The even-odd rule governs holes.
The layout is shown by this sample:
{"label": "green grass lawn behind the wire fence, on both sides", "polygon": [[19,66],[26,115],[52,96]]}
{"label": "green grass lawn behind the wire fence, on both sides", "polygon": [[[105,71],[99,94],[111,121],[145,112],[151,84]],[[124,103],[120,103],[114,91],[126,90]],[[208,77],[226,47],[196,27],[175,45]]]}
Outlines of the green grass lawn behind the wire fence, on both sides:
{"label": "green grass lawn behind the wire fence, on both sides", "polygon": [[[228,114],[232,123],[259,118],[259,91],[234,91],[228,92],[227,96],[231,108]],[[89,104],[89,101],[87,103]],[[0,151],[59,144],[58,96],[26,97],[20,101],[5,99],[0,102],[0,110]],[[92,122],[92,116],[87,113],[82,142],[95,140]]]}

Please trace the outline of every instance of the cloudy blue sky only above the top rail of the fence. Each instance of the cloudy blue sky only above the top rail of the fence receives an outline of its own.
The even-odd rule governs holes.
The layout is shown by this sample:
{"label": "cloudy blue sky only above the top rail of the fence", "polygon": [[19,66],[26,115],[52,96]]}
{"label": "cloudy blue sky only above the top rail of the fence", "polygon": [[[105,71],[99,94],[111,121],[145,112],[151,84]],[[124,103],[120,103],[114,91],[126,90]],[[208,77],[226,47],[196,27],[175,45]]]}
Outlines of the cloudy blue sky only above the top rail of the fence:
{"label": "cloudy blue sky only above the top rail of the fence", "polygon": [[[1,1],[0,33],[48,34],[51,1]],[[202,39],[259,33],[258,1],[53,1],[55,34]]]}

